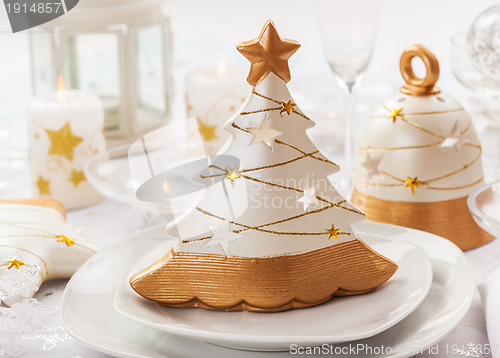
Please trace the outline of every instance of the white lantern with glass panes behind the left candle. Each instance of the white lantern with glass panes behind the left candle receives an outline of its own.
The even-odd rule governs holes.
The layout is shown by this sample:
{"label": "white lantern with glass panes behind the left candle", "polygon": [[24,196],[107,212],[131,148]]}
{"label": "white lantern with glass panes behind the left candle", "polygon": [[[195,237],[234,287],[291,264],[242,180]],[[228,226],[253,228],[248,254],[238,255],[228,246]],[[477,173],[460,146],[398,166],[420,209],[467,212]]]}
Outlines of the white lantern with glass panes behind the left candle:
{"label": "white lantern with glass panes behind the left candle", "polygon": [[103,100],[106,137],[131,141],[170,117],[171,34],[161,0],[80,0],[30,33],[33,91],[66,86]]}

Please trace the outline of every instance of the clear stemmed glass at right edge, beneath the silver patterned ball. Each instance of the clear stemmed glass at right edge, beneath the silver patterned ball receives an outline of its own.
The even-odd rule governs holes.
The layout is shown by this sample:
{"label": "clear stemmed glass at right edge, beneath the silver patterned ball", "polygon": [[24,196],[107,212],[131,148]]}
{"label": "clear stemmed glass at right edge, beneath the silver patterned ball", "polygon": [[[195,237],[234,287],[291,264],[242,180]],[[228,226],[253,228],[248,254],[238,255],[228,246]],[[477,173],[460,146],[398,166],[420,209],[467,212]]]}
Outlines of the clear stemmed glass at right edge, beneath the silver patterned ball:
{"label": "clear stemmed glass at right edge, beneath the silver patterned ball", "polygon": [[[500,80],[488,76],[484,71],[480,71],[474,64],[469,51],[467,50],[467,32],[459,32],[451,38],[451,69],[455,78],[468,89],[482,95],[496,99],[496,104],[500,106]],[[497,107],[498,108],[498,107]],[[489,126],[494,129],[490,131],[500,137],[500,115],[497,111],[487,113]],[[499,146],[500,154],[500,146]],[[500,159],[500,158],[499,158]],[[497,161],[495,178],[500,179],[500,160]]]}

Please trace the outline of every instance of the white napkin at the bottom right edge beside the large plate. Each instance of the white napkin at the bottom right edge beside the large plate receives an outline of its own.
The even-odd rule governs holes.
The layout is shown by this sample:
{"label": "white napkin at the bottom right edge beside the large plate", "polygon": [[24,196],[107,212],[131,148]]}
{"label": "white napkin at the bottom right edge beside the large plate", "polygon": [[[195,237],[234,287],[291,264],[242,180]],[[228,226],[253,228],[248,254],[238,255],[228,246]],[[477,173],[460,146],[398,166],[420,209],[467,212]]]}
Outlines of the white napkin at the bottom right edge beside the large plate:
{"label": "white napkin at the bottom right edge beside the large plate", "polygon": [[492,358],[500,358],[500,267],[478,286]]}

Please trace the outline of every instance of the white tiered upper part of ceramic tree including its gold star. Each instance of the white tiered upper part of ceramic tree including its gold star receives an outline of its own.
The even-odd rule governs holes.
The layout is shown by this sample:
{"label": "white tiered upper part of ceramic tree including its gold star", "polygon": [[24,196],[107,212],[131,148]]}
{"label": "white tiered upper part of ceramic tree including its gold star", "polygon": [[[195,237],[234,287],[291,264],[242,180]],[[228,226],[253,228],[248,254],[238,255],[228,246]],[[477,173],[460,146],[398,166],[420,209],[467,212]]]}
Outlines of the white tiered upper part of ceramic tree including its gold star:
{"label": "white tiered upper part of ceramic tree including its gold star", "polygon": [[[209,187],[196,210],[177,223],[181,250],[247,257],[305,252],[355,239],[351,224],[364,218],[328,181],[339,167],[309,139],[306,130],[314,122],[287,89],[287,59],[298,43],[280,39],[271,23],[264,33],[274,44],[265,64],[258,62],[263,55],[254,54],[254,47],[265,44],[238,47],[252,61],[248,81],[258,81],[226,124],[233,140],[221,152],[238,158],[239,165],[214,164],[207,176],[224,178],[225,188]],[[213,230],[224,225],[234,235],[224,235],[222,244]]]}

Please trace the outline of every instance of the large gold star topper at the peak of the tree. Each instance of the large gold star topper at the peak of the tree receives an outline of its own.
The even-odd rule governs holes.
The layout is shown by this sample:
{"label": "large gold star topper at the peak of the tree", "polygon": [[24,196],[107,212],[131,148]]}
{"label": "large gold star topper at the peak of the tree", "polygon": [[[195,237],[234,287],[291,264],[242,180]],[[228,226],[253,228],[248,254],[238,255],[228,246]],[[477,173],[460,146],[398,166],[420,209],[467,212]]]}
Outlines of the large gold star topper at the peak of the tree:
{"label": "large gold star topper at the peak of the tree", "polygon": [[273,72],[283,81],[290,81],[288,59],[300,47],[297,41],[281,38],[271,20],[254,40],[245,41],[237,46],[238,51],[251,63],[247,81],[256,86]]}

